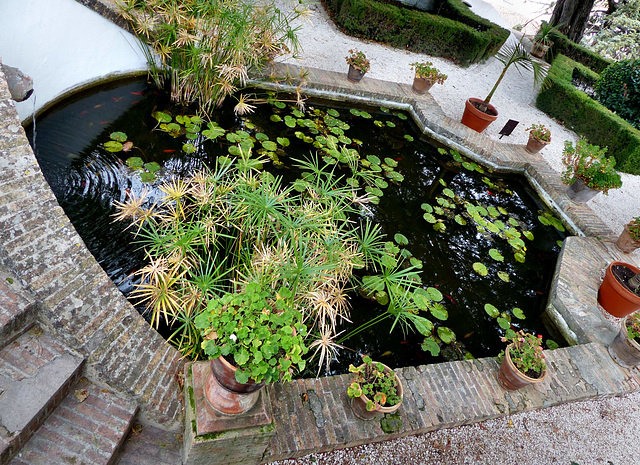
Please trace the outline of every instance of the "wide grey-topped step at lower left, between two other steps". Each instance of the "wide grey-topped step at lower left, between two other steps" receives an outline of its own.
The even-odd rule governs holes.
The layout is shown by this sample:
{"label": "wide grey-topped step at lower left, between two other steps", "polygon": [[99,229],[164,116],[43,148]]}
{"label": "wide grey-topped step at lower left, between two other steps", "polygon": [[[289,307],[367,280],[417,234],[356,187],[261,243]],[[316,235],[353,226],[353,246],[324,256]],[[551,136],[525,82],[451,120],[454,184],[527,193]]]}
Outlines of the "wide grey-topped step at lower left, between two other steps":
{"label": "wide grey-topped step at lower left, between two other steps", "polygon": [[0,350],[0,465],[9,463],[60,404],[83,364],[38,326]]}

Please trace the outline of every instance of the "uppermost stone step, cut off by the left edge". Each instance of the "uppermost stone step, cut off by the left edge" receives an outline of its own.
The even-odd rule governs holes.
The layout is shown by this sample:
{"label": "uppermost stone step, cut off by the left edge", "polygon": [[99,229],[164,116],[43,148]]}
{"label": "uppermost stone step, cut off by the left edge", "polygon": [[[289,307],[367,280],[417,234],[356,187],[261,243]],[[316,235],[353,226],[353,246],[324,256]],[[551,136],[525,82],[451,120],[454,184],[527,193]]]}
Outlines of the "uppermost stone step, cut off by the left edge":
{"label": "uppermost stone step, cut off by the left edge", "polygon": [[35,299],[12,273],[0,267],[0,349],[31,328],[35,320]]}

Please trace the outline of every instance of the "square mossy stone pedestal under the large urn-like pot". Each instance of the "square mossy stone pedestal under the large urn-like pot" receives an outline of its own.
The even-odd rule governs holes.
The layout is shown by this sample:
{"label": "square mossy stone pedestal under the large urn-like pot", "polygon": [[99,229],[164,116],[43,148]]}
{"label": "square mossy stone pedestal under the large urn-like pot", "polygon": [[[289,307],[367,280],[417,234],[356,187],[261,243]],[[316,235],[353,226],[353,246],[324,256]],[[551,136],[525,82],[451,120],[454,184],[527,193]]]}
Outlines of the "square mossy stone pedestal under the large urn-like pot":
{"label": "square mossy stone pedestal under the large urn-like pot", "polygon": [[223,415],[206,400],[204,383],[211,368],[208,362],[185,367],[185,465],[259,464],[274,435],[271,402],[266,389],[248,412]]}

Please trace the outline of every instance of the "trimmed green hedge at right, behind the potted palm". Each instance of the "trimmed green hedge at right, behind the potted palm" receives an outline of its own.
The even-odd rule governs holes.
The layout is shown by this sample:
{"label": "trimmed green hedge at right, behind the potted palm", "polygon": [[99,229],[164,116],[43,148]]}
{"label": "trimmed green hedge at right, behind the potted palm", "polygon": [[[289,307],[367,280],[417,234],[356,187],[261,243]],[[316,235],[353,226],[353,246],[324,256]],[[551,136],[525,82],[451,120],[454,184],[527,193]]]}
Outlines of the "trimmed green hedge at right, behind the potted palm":
{"label": "trimmed green hedge at right, behind the potted palm", "polygon": [[609,148],[616,169],[640,174],[640,131],[600,103],[578,91],[571,83],[576,73],[589,80],[598,75],[585,66],[558,55],[536,99],[536,106],[596,145]]}

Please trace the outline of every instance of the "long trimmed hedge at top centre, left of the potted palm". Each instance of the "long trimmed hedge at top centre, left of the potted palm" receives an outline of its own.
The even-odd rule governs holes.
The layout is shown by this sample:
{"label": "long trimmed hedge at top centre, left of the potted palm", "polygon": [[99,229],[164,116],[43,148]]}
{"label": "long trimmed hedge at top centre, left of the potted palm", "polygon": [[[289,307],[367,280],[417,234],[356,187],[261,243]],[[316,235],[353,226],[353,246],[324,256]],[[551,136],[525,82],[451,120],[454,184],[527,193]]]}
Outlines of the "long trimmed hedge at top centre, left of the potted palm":
{"label": "long trimmed hedge at top centre, left of the potted palm", "polygon": [[346,34],[384,42],[461,65],[495,54],[509,31],[475,14],[461,0],[446,0],[441,8],[454,19],[375,0],[322,0]]}

